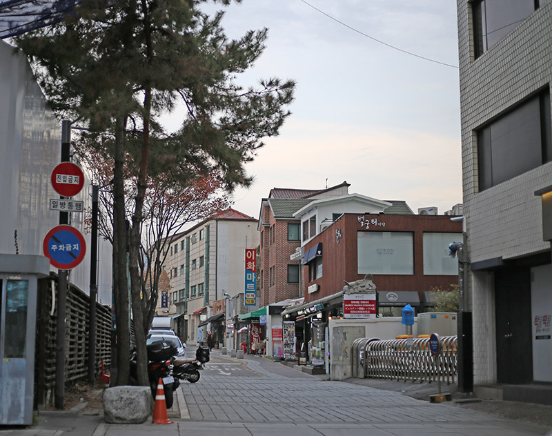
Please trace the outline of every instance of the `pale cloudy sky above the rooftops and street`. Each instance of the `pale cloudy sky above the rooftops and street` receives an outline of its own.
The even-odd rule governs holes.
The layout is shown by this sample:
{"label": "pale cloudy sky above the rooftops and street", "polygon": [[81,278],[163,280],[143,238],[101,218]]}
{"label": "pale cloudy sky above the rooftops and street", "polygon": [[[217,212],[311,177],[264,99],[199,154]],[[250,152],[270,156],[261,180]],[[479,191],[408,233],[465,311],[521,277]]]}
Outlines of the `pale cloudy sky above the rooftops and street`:
{"label": "pale cloudy sky above the rooftops and street", "polygon": [[454,0],[243,0],[223,26],[230,38],[268,28],[240,83],[297,81],[292,115],[246,166],[255,181],[235,191],[233,208],[258,218],[271,188],[343,181],[414,212],[462,203]]}

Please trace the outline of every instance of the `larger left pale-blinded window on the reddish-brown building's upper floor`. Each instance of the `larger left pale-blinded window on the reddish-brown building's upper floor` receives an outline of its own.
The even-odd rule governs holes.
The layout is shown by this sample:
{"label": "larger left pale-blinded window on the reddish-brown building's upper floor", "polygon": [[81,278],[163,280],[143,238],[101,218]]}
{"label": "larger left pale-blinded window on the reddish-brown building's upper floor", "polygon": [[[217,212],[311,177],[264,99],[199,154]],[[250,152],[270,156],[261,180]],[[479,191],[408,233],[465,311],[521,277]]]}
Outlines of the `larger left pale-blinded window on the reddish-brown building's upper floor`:
{"label": "larger left pale-blinded window on the reddish-brown building's upper floor", "polygon": [[412,232],[357,232],[359,274],[414,274]]}

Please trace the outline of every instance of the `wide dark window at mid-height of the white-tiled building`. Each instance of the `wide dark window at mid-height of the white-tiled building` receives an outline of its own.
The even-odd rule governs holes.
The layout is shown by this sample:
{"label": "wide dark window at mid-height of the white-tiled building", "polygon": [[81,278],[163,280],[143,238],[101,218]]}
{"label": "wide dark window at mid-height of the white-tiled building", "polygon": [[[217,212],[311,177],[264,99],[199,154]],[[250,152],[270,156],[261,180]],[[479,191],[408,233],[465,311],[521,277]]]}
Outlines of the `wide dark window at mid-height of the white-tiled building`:
{"label": "wide dark window at mid-height of the white-tiled building", "polygon": [[551,161],[549,90],[476,132],[480,191]]}

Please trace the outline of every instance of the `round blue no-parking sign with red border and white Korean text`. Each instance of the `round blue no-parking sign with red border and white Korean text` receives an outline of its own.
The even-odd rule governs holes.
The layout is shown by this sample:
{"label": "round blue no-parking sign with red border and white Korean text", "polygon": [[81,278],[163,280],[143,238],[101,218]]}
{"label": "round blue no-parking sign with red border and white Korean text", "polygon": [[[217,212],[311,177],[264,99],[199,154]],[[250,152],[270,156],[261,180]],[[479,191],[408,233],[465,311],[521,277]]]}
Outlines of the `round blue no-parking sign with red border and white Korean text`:
{"label": "round blue no-parking sign with red border and white Korean text", "polygon": [[81,263],[86,253],[86,244],[79,230],[61,225],[46,234],[42,250],[52,266],[60,270],[70,270]]}

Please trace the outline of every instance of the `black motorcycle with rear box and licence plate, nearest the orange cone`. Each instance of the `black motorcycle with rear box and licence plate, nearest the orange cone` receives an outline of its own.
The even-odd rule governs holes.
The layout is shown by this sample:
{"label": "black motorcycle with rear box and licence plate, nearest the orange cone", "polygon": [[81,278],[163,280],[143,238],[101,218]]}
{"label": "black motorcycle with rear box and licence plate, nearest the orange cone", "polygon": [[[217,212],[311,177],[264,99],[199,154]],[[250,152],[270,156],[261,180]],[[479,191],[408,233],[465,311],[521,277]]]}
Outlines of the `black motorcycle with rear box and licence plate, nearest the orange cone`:
{"label": "black motorcycle with rear box and licence plate, nearest the orange cone", "polygon": [[[172,393],[180,386],[180,381],[172,374],[172,360],[177,353],[177,348],[167,341],[155,341],[146,346],[148,350],[148,381],[151,393],[155,399],[159,379],[163,382],[165,403],[167,408],[172,407],[174,401]],[[137,384],[136,350],[130,355],[130,381]]]}

